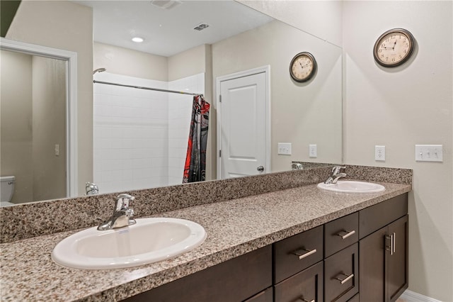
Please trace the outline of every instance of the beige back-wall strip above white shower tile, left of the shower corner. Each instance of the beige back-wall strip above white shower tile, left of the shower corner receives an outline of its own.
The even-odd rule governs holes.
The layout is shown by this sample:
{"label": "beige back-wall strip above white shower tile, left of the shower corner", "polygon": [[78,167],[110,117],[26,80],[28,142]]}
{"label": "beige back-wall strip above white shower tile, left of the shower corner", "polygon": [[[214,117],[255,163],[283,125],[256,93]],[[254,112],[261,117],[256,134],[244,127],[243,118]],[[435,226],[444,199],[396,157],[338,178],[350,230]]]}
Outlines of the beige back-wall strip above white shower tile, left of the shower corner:
{"label": "beige back-wall strip above white shower tile, left of the shower corner", "polygon": [[93,43],[93,70],[102,67],[113,74],[158,81],[168,80],[166,57],[103,43]]}

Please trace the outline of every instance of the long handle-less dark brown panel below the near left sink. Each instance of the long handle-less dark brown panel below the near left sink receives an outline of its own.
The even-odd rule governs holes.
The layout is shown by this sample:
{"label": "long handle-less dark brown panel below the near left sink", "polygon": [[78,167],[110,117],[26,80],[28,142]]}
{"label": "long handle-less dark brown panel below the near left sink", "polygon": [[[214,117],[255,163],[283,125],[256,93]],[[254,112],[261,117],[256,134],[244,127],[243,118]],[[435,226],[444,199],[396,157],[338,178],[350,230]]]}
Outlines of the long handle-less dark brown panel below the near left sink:
{"label": "long handle-less dark brown panel below the near left sink", "polygon": [[268,245],[139,293],[124,301],[237,302],[270,286],[272,286],[272,248]]}

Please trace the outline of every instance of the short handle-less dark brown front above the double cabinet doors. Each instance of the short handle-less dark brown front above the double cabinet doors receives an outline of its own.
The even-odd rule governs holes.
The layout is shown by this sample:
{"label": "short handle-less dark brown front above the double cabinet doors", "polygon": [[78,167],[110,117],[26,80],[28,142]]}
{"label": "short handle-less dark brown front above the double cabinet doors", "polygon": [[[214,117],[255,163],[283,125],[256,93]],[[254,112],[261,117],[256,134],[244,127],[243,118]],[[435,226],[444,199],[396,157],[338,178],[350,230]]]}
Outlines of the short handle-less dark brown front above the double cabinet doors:
{"label": "short handle-less dark brown front above the double cabinet doors", "polygon": [[408,213],[408,194],[401,194],[359,212],[359,238],[373,233]]}

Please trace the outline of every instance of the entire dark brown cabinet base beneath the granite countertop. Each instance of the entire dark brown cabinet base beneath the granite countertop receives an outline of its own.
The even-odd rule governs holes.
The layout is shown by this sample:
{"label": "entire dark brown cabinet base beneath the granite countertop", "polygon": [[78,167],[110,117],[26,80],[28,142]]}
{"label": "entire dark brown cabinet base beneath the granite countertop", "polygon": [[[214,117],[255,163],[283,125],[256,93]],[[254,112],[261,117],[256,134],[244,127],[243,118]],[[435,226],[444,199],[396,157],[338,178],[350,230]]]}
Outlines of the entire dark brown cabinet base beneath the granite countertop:
{"label": "entire dark brown cabinet base beneath the granite countertop", "polygon": [[125,301],[394,302],[408,287],[407,194]]}

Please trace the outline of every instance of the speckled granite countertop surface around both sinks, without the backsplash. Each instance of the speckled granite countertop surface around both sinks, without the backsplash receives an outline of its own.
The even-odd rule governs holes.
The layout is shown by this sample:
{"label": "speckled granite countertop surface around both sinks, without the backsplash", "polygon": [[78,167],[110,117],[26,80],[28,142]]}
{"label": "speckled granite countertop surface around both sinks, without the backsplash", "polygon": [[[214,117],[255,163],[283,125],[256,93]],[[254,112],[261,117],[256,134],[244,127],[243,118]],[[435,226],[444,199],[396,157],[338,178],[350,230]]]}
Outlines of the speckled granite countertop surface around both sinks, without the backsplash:
{"label": "speckled granite countertop surface around both sinks, without the backsplash", "polygon": [[158,216],[200,223],[207,238],[173,259],[129,269],[61,267],[50,253],[79,230],[4,243],[1,301],[117,301],[411,191],[409,184],[380,183],[386,191],[338,194],[315,184],[183,208]]}

